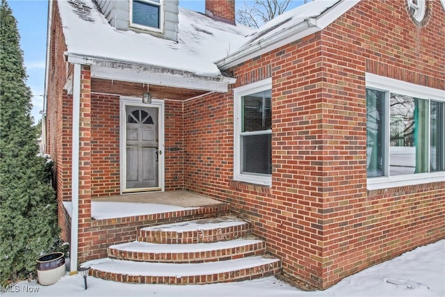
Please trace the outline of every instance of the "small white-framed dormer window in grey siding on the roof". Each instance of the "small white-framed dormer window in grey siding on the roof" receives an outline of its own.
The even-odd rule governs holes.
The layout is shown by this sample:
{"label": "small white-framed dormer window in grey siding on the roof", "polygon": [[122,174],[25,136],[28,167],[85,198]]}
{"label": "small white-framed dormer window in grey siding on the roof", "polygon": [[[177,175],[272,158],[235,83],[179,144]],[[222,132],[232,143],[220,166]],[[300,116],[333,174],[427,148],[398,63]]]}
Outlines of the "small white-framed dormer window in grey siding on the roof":
{"label": "small white-framed dormer window in grey siding on the roof", "polygon": [[139,29],[162,31],[163,0],[131,0],[130,24]]}

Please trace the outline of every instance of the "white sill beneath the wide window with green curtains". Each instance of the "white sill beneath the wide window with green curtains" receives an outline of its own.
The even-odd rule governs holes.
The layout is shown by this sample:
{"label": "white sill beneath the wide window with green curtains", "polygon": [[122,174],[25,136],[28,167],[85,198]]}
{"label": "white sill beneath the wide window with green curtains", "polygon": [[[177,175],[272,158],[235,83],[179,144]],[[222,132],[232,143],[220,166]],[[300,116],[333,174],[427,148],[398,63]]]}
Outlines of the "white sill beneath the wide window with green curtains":
{"label": "white sill beneath the wide window with green curtains", "polygon": [[398,175],[396,177],[372,177],[368,179],[369,191],[397,186],[414,186],[431,182],[445,182],[445,172],[419,173],[416,175]]}

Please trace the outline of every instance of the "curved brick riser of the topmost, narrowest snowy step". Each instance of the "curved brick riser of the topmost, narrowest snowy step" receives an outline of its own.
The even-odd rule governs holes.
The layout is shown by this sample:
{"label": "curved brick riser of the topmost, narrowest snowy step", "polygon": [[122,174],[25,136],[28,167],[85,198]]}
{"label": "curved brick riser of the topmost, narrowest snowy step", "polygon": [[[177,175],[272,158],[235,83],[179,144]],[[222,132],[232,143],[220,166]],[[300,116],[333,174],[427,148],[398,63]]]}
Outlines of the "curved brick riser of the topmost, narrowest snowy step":
{"label": "curved brick riser of the topmost, narrowest snowy step", "polygon": [[186,232],[139,230],[138,241],[160,244],[188,244],[227,241],[252,234],[250,223],[211,230],[193,230]]}

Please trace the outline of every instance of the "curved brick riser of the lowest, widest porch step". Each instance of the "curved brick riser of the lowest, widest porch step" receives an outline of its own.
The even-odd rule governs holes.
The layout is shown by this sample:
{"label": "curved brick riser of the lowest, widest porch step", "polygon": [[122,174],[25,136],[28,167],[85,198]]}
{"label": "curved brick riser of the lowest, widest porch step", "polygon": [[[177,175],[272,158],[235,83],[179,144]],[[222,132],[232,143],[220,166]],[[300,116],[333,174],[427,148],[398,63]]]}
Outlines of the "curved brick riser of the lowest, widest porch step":
{"label": "curved brick riser of the lowest, widest porch step", "polygon": [[243,280],[254,280],[276,275],[281,272],[281,262],[264,264],[252,268],[243,268],[226,273],[213,273],[209,275],[189,275],[183,277],[176,276],[140,276],[127,275],[121,273],[110,273],[92,269],[91,275],[103,280],[113,280],[115,282],[126,282],[134,284],[210,284],[215,282],[239,282]]}

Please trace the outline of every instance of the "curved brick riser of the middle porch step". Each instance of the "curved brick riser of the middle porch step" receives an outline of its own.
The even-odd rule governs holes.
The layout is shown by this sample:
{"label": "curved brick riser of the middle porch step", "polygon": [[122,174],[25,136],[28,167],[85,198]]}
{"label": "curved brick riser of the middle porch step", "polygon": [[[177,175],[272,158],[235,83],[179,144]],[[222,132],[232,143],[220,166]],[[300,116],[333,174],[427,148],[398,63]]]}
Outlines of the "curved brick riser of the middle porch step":
{"label": "curved brick riser of the middle porch step", "polygon": [[209,250],[205,252],[130,252],[108,248],[108,257],[120,260],[138,262],[163,262],[163,263],[203,263],[225,261],[250,256],[259,256],[266,253],[266,243],[253,243],[236,248],[221,250]]}

